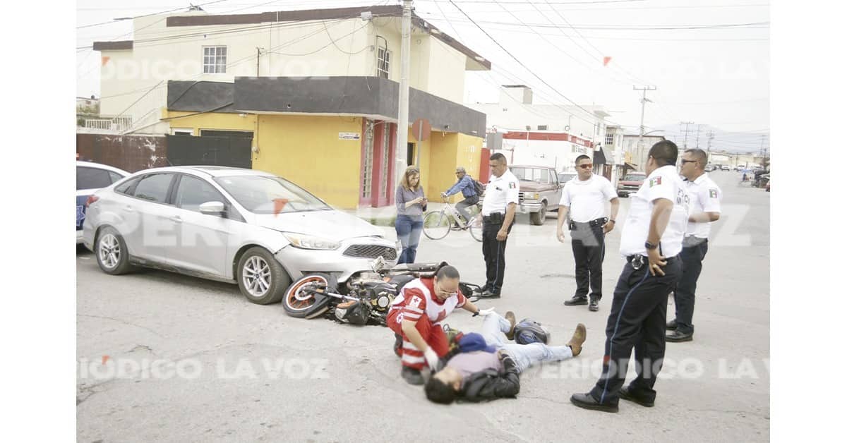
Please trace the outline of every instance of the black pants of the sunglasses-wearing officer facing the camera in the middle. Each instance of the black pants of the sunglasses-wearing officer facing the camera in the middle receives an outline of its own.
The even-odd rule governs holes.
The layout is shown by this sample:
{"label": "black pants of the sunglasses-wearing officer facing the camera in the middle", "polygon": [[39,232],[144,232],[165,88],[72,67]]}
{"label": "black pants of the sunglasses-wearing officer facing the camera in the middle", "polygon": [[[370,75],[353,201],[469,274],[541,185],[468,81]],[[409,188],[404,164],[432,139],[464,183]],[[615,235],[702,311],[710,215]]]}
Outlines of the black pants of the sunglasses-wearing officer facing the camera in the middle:
{"label": "black pants of the sunglasses-wearing officer facing the camera in the middle", "polygon": [[571,231],[573,263],[576,264],[574,274],[577,280],[577,291],[574,296],[583,298],[587,296],[590,283],[591,297],[600,300],[603,296],[603,257],[606,256],[606,235],[603,235],[601,225],[592,227],[587,223],[579,223],[576,227],[577,229]]}

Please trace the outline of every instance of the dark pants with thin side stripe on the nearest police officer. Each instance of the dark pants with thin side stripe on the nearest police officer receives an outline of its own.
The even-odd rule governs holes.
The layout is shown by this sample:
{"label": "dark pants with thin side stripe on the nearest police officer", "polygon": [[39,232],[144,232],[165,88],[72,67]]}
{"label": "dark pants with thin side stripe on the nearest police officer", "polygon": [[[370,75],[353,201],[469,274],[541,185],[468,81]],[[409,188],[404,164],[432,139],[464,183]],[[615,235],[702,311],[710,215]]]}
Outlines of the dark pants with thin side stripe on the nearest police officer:
{"label": "dark pants with thin side stripe on the nearest police officer", "polygon": [[650,275],[649,267],[646,257],[637,270],[632,263],[626,263],[617,280],[612,313],[606,322],[603,374],[591,390],[591,396],[601,403],[617,403],[633,348],[638,376],[629,384],[629,390],[645,400],[656,398],[653,385],[665,357],[667,296],[682,274],[682,260],[668,258],[662,268],[664,276]]}

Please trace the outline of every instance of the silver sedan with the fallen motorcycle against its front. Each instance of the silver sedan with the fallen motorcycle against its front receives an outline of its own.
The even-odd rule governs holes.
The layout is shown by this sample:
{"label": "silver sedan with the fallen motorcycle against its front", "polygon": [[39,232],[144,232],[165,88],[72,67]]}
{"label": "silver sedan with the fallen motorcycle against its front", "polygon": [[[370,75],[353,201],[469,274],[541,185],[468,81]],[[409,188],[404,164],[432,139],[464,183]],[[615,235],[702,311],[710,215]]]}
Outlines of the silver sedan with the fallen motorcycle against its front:
{"label": "silver sedan with the fallen motorcycle against its front", "polygon": [[95,192],[83,242],[107,274],[138,265],[220,280],[258,304],[305,274],[343,283],[397,259],[380,230],[290,181],[213,166],[147,169]]}

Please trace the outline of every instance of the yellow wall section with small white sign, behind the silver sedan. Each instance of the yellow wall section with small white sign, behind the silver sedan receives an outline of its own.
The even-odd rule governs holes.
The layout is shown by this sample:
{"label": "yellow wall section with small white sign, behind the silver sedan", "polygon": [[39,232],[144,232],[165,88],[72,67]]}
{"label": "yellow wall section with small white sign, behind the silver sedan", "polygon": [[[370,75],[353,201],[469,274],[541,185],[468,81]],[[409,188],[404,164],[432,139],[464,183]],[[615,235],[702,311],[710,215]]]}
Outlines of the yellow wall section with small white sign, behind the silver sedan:
{"label": "yellow wall section with small white sign, behind the silver sedan", "polygon": [[[355,132],[360,140],[339,140]],[[253,169],[285,177],[337,208],[357,208],[362,119],[317,115],[259,115]]]}

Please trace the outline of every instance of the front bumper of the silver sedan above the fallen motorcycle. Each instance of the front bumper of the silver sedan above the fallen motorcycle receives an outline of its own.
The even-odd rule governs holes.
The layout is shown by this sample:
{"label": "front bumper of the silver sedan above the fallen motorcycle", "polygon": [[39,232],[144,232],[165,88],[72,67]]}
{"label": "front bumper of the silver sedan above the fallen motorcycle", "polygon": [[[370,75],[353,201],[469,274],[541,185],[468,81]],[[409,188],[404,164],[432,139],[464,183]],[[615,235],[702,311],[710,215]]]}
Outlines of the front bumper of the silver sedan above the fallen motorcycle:
{"label": "front bumper of the silver sedan above the fallen motorcycle", "polygon": [[[343,241],[338,249],[313,250],[295,246],[285,246],[274,254],[292,280],[316,272],[332,274],[339,282],[344,282],[352,274],[370,271],[371,263],[382,256],[385,263],[394,266],[399,252],[396,245],[376,237],[360,237]],[[393,256],[393,257],[392,257]]]}

